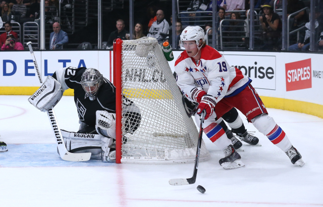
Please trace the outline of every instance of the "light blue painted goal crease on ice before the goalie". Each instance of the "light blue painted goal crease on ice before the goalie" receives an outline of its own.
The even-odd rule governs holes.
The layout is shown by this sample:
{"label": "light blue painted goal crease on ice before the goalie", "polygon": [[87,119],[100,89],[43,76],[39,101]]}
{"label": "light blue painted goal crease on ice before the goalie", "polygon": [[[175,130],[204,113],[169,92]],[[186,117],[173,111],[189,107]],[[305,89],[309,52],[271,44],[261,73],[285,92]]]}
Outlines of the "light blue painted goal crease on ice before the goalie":
{"label": "light blue painted goal crease on ice before the goalie", "polygon": [[8,144],[9,151],[0,153],[0,167],[93,167],[115,166],[115,163],[69,162],[61,159],[56,144]]}

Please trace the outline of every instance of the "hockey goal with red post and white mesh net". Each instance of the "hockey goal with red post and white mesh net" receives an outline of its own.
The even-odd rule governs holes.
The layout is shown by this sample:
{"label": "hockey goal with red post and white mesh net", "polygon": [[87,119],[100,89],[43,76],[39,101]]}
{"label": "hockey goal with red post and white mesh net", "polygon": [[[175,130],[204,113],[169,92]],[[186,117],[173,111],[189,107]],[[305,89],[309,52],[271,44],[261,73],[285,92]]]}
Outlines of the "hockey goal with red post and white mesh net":
{"label": "hockey goal with red post and white mesh net", "polygon": [[[131,42],[132,41],[132,42]],[[153,38],[144,38],[143,39],[143,42],[144,41],[152,41],[152,43],[153,43],[153,48],[154,48],[154,51],[152,52],[153,54],[155,54],[156,53],[156,51],[157,51],[157,53],[158,54],[156,54],[156,56],[158,57],[158,60],[160,60],[160,59],[165,59],[165,60],[161,60],[161,62],[163,63],[162,65],[163,65],[163,68],[167,68],[167,69],[165,69],[165,70],[168,70],[167,71],[167,73],[168,73],[168,79],[171,79],[171,78],[169,78],[170,77],[170,73],[172,74],[172,71],[171,71],[171,69],[170,69],[170,67],[169,67],[169,65],[168,65],[168,62],[167,62],[167,60],[166,60],[166,58],[165,58],[165,56],[163,55],[163,52],[162,52],[162,50],[161,50],[161,46],[159,45],[159,44],[157,44],[157,41],[156,41],[156,39],[153,39]],[[129,43],[129,44],[132,44],[132,47],[129,49],[129,48],[127,48],[127,43]],[[133,46],[133,45],[135,45],[135,46]],[[139,46],[138,46],[139,45]],[[189,135],[185,135],[185,136],[189,136],[189,141],[188,142],[190,142],[190,143],[188,143],[187,144],[187,148],[185,148],[185,149],[182,149],[182,148],[180,148],[180,149],[174,149],[174,147],[173,146],[171,146],[170,148],[167,148],[167,147],[169,147],[169,145],[167,145],[166,146],[166,148],[164,149],[163,147],[165,147],[163,144],[161,144],[161,146],[159,146],[159,145],[155,145],[155,146],[158,146],[159,148],[156,148],[156,151],[157,151],[157,149],[158,150],[165,150],[165,153],[164,153],[164,159],[157,159],[158,158],[158,156],[157,157],[154,157],[154,156],[151,156],[152,157],[152,159],[149,159],[149,158],[147,158],[147,157],[144,157],[146,154],[145,153],[143,153],[144,154],[144,156],[142,157],[142,158],[140,158],[140,157],[131,157],[131,156],[128,156],[128,155],[126,155],[126,156],[123,156],[123,154],[122,154],[122,151],[123,152],[125,152],[125,149],[122,149],[122,147],[123,147],[123,144],[125,144],[125,148],[126,147],[128,147],[127,146],[127,144],[128,144],[128,142],[130,142],[130,144],[131,144],[131,141],[129,141],[129,138],[128,138],[128,142],[127,143],[125,143],[124,142],[124,138],[125,138],[125,130],[123,129],[123,127],[124,127],[124,124],[122,123],[122,119],[123,119],[123,117],[122,117],[122,115],[123,115],[123,112],[122,112],[122,110],[123,110],[123,97],[124,96],[126,96],[127,98],[128,98],[128,96],[127,96],[127,90],[129,91],[129,88],[127,88],[126,87],[126,89],[124,89],[124,88],[122,88],[123,86],[125,87],[125,82],[127,82],[127,79],[126,79],[126,81],[124,81],[123,82],[123,79],[122,79],[122,71],[123,70],[126,70],[124,67],[128,67],[127,66],[127,63],[126,63],[126,59],[127,59],[127,54],[128,53],[134,53],[134,54],[136,54],[137,56],[138,56],[138,58],[142,58],[142,57],[144,57],[145,55],[138,55],[137,54],[137,51],[135,51],[135,50],[137,50],[137,47],[138,47],[138,49],[139,49],[139,47],[141,46],[142,44],[139,44],[139,43],[134,43],[134,40],[121,40],[120,38],[118,38],[118,39],[116,39],[116,41],[114,42],[114,46],[113,46],[113,68],[114,68],[114,76],[113,76],[113,81],[114,81],[114,85],[116,86],[116,163],[117,164],[120,164],[120,163],[142,163],[142,164],[176,164],[176,163],[193,163],[194,161],[195,161],[195,155],[196,155],[196,146],[197,146],[197,140],[198,140],[198,132],[197,132],[197,128],[196,128],[196,126],[195,126],[195,124],[194,124],[194,122],[193,122],[193,120],[192,120],[192,118],[191,117],[188,117],[187,116],[187,113],[185,113],[185,110],[184,110],[184,114],[185,114],[185,119],[187,120],[187,119],[190,119],[189,120],[189,124],[190,125],[186,125],[186,123],[185,123],[185,126],[190,126],[190,128],[195,128],[195,130],[196,130],[196,134],[194,134],[194,133],[191,133],[191,131],[189,131],[190,133],[187,133],[187,134],[189,134]],[[125,47],[124,48],[124,51],[123,51],[123,46]],[[145,47],[145,46],[143,46],[143,47]],[[156,50],[157,49],[157,50]],[[160,51],[159,51],[160,50]],[[143,50],[143,51],[145,51],[145,50]],[[149,51],[151,51],[151,50],[149,50]],[[124,52],[124,53],[123,53]],[[123,57],[123,54],[124,54],[124,57]],[[146,53],[145,54],[148,54],[148,51],[146,51]],[[133,56],[134,58],[136,58],[136,56]],[[123,63],[123,60],[125,61],[124,63]],[[166,62],[165,62],[166,61]],[[140,62],[141,63],[141,62]],[[166,66],[166,64],[167,64],[167,67],[165,67]],[[126,65],[126,66],[125,66]],[[157,65],[157,63],[156,63],[156,65]],[[131,67],[135,67],[135,66],[131,66]],[[149,66],[148,66],[149,67]],[[156,67],[157,68],[157,67]],[[160,68],[161,68],[161,66],[160,66]],[[164,69],[163,69],[164,70]],[[165,71],[163,71],[163,70],[161,70],[160,69],[160,71],[161,71],[161,73],[163,73],[163,72],[165,72]],[[180,92],[180,90],[179,90],[179,88],[177,87],[177,85],[176,85],[176,82],[175,82],[175,78],[173,77],[173,75],[172,75],[172,78],[173,78],[173,80],[171,80],[173,83],[172,83],[172,90],[174,91],[175,89],[175,87],[176,87],[176,96],[174,95],[174,101],[175,101],[175,99],[176,99],[176,101],[179,101],[179,99],[180,99],[180,101],[181,101],[181,105],[182,105],[182,108],[184,109],[185,107],[186,107],[186,105],[185,105],[185,102],[182,100],[182,94],[181,94],[181,92]],[[129,78],[128,78],[129,79]],[[166,80],[166,78],[165,78],[165,80]],[[129,82],[129,81],[128,81]],[[133,81],[133,82],[135,82],[135,81]],[[175,83],[175,86],[174,86],[174,83]],[[141,83],[142,84],[142,83]],[[148,83],[147,83],[148,84]],[[169,84],[169,83],[168,83]],[[168,86],[168,85],[167,85]],[[132,86],[131,86],[132,87]],[[133,88],[130,88],[131,89],[131,94],[134,94],[135,92],[133,92],[134,90],[133,90]],[[142,90],[141,89],[139,89],[139,90],[137,90],[137,89],[135,89],[136,91],[139,91],[140,93],[141,93],[141,95],[140,96],[142,96]],[[151,90],[151,89],[148,89],[148,90]],[[165,91],[165,90],[160,90],[161,92],[159,92],[160,94],[162,94],[163,93],[163,91]],[[129,92],[128,92],[128,94],[129,94]],[[180,94],[180,95],[178,95],[178,94]],[[145,95],[145,94],[144,94]],[[148,94],[149,95],[149,94]],[[173,97],[173,94],[171,94],[171,96]],[[143,97],[143,99],[144,99],[145,97]],[[151,97],[150,97],[151,98]],[[134,98],[134,99],[136,99],[136,97]],[[137,99],[139,99],[139,98],[137,98]],[[153,98],[152,98],[153,99]],[[171,98],[172,99],[172,98]],[[130,100],[132,100],[132,99],[130,99]],[[134,100],[135,101],[135,100]],[[140,100],[140,101],[144,101],[144,100]],[[183,102],[182,102],[183,101]],[[138,107],[140,108],[141,106],[140,106],[140,102],[138,102],[138,103],[136,103],[137,105],[139,105]],[[145,106],[143,106],[143,107],[145,107]],[[186,107],[187,108],[187,107]],[[142,109],[144,109],[144,110],[146,110],[146,108],[142,108]],[[149,108],[150,109],[150,108]],[[151,111],[153,111],[153,109],[151,109]],[[187,111],[187,110],[186,110]],[[145,113],[145,112],[144,112]],[[175,115],[174,115],[175,116]],[[141,119],[141,122],[143,122],[142,121],[143,119]],[[167,120],[167,119],[166,119]],[[149,120],[150,121],[150,120]],[[165,121],[164,121],[164,123],[165,123]],[[193,123],[193,124],[192,124]],[[141,123],[142,124],[142,123]],[[184,125],[184,124],[183,124]],[[194,127],[192,127],[192,126],[194,126]],[[139,127],[140,127],[140,125],[139,125]],[[139,129],[139,127],[138,127],[138,129]],[[186,128],[188,128],[188,127],[186,127]],[[149,133],[150,133],[150,131],[149,131]],[[167,133],[163,133],[164,135],[158,135],[158,133],[155,133],[155,134],[157,134],[157,135],[153,135],[153,136],[168,136],[168,134]],[[175,133],[176,134],[176,133]],[[192,135],[192,134],[194,134],[194,136]],[[151,134],[150,134],[151,135]],[[176,135],[174,135],[174,133],[172,133],[172,134],[170,134],[170,136],[171,136],[171,138],[174,138],[174,142],[177,142],[177,137],[176,137]],[[180,138],[179,138],[179,140],[180,139],[183,139],[183,135],[179,135],[179,136],[181,136]],[[193,137],[193,138],[191,138],[191,137]],[[168,137],[169,138],[169,137]],[[140,137],[140,139],[143,139],[142,137]],[[184,139],[187,139],[187,138],[185,138],[184,137]],[[152,140],[152,141],[154,141],[154,140]],[[148,142],[148,141],[147,141]],[[151,143],[151,140],[149,140],[149,142]],[[183,141],[182,141],[183,142]],[[137,142],[135,142],[135,143],[137,143]],[[154,143],[154,142],[153,142]],[[185,140],[185,143],[186,143],[186,140]],[[185,144],[184,143],[184,144]],[[135,147],[135,149],[136,149],[136,146],[138,147],[138,144],[135,144],[134,145]],[[140,145],[141,146],[141,145]],[[139,148],[140,148],[140,146],[139,146]],[[180,145],[180,146],[182,146],[182,145]],[[163,149],[160,149],[160,147],[161,148],[163,148]],[[173,147],[173,148],[172,148]],[[143,148],[145,148],[145,146],[143,146]],[[147,147],[147,148],[149,148],[149,147]],[[178,154],[180,154],[178,157],[180,158],[180,159],[174,159],[174,158],[177,158],[176,156],[169,156],[169,157],[172,157],[172,158],[168,158],[168,156],[167,156],[167,154],[174,154],[174,152],[170,152],[171,150],[173,150],[173,151],[175,151],[175,154],[177,154],[177,152],[179,151],[179,153]],[[178,150],[178,151],[176,151],[176,150]],[[184,150],[184,155],[186,154],[186,155],[188,155],[187,156],[187,159],[185,158],[183,158],[184,156],[182,155],[182,152],[180,151],[180,150]],[[208,160],[209,159],[209,152],[208,152],[208,150],[206,149],[206,147],[205,147],[205,143],[202,141],[202,149],[201,149],[201,151],[203,150],[203,152],[201,152],[201,157],[200,157],[200,161],[205,161],[205,160]],[[126,154],[126,153],[125,153]],[[129,153],[127,153],[127,154],[129,154]],[[131,154],[131,153],[130,153]],[[134,154],[136,154],[136,153],[134,153]],[[148,156],[150,156],[150,154],[148,153]]]}

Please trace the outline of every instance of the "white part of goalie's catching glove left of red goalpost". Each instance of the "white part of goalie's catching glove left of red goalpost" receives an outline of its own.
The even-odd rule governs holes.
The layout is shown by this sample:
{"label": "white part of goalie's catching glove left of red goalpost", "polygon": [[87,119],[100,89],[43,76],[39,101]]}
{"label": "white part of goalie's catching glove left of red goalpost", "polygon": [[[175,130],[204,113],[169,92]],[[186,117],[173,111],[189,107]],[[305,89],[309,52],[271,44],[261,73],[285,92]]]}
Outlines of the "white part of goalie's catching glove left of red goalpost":
{"label": "white part of goalie's catching glove left of red goalpost", "polygon": [[97,133],[110,138],[116,138],[116,114],[106,111],[96,111],[95,129]]}

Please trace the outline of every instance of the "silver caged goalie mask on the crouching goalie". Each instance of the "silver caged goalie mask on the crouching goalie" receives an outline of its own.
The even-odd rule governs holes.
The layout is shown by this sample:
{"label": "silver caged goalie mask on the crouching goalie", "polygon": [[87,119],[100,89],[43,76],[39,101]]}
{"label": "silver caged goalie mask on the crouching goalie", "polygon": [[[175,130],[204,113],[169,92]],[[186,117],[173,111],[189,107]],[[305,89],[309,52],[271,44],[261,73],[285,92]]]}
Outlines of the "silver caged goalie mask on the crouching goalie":
{"label": "silver caged goalie mask on the crouching goalie", "polygon": [[95,100],[96,93],[102,84],[102,80],[103,76],[94,68],[88,68],[83,72],[81,84],[85,91],[85,98],[89,97],[90,100]]}

